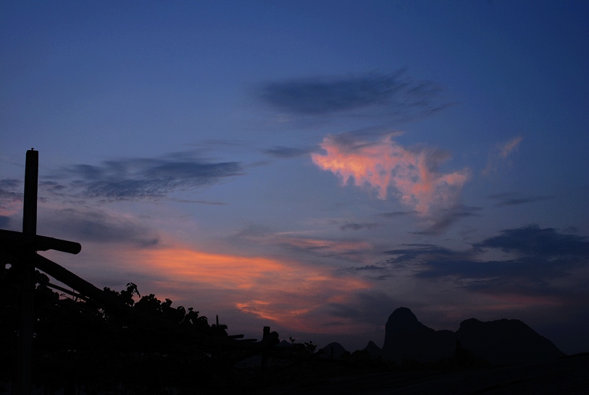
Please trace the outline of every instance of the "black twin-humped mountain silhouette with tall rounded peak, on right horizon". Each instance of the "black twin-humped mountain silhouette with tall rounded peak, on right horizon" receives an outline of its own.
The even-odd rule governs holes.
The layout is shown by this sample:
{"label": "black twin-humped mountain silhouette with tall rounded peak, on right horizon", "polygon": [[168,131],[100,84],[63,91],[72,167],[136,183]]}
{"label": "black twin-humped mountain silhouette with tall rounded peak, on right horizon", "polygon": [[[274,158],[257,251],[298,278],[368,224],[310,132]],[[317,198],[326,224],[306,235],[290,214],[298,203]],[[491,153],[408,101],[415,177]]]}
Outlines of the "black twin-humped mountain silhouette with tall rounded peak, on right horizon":
{"label": "black twin-humped mountain silhouette with tall rounded peak, on right horizon", "polygon": [[457,348],[466,349],[491,364],[527,364],[564,356],[550,340],[538,335],[520,320],[481,322],[475,318],[460,323],[458,331],[435,331],[417,320],[407,307],[394,310],[386,322],[382,353],[400,363],[451,358]]}

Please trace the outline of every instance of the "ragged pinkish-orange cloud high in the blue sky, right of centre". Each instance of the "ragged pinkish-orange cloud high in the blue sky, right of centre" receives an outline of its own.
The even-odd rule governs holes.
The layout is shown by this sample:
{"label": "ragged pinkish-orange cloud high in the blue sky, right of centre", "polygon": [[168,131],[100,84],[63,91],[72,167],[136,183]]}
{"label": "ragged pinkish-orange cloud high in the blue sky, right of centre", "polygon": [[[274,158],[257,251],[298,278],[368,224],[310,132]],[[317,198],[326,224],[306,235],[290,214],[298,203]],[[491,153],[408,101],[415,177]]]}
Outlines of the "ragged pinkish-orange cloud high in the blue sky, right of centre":
{"label": "ragged pinkish-orange cloud high in the blue sky, right of centre", "polygon": [[438,173],[436,167],[447,158],[433,150],[408,150],[386,136],[378,142],[341,142],[327,136],[321,147],[326,155],[312,154],[313,162],[339,175],[347,184],[353,177],[356,186],[368,185],[386,199],[388,189],[404,205],[421,215],[433,207],[451,207],[456,203],[462,186],[468,180],[468,169],[454,173]]}

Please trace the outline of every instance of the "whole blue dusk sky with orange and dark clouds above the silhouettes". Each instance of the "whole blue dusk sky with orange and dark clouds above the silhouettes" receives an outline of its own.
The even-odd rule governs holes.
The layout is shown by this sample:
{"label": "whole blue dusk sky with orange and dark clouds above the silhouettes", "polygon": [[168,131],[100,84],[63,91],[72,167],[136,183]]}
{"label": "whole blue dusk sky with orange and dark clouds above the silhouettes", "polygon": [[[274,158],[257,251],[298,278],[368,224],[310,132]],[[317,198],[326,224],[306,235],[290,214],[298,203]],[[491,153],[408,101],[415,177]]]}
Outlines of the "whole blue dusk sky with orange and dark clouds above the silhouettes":
{"label": "whole blue dusk sky with orange and dark clouds above the silhouettes", "polygon": [[0,228],[231,334],[589,351],[589,3],[0,2]]}

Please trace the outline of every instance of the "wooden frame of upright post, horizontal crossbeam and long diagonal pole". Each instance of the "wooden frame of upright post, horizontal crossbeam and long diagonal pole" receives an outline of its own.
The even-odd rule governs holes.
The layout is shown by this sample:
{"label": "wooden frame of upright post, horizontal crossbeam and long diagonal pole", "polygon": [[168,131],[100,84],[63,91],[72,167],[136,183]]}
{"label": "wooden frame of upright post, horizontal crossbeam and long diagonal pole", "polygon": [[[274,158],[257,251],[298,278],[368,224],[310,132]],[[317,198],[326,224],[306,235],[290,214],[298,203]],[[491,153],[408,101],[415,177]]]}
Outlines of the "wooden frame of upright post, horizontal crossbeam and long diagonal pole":
{"label": "wooden frame of upright post, horizontal crossbeam and long diagonal pole", "polygon": [[35,268],[42,270],[58,281],[78,290],[81,294],[88,296],[92,301],[105,307],[118,311],[130,318],[136,318],[151,327],[167,329],[172,333],[187,335],[201,344],[210,346],[221,346],[236,350],[260,351],[273,346],[278,342],[278,334],[273,332],[266,334],[260,342],[242,342],[236,340],[242,335],[212,337],[210,333],[199,333],[199,331],[188,331],[185,328],[168,322],[162,318],[142,314],[136,309],[121,303],[117,298],[99,290],[95,285],[78,277],[66,268],[51,262],[49,259],[38,255],[37,251],[56,250],[65,253],[77,254],[82,246],[76,242],[49,238],[37,235],[37,192],[38,192],[38,166],[39,153],[31,149],[27,151],[25,165],[25,196],[23,205],[23,231],[8,231],[0,229],[0,251],[8,252],[17,257],[16,266],[22,272],[22,307],[21,307],[21,332],[18,338],[18,385],[17,393],[29,395],[31,392],[32,378],[32,339],[33,339],[33,296],[34,296],[34,272]]}

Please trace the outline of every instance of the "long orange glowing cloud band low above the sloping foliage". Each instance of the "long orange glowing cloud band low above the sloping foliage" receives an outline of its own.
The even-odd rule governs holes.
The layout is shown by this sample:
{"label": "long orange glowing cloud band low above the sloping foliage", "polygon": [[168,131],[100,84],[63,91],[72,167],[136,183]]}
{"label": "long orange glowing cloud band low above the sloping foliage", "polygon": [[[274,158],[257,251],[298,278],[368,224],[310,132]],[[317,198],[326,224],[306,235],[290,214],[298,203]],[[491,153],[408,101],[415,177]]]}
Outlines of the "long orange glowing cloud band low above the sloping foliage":
{"label": "long orange glowing cloud band low above the sloping foliage", "polygon": [[292,329],[309,329],[305,314],[326,303],[345,301],[354,290],[370,288],[364,281],[338,277],[325,267],[186,247],[138,251],[132,259],[171,281],[231,290],[231,303],[240,311]]}

